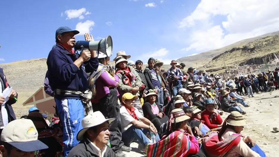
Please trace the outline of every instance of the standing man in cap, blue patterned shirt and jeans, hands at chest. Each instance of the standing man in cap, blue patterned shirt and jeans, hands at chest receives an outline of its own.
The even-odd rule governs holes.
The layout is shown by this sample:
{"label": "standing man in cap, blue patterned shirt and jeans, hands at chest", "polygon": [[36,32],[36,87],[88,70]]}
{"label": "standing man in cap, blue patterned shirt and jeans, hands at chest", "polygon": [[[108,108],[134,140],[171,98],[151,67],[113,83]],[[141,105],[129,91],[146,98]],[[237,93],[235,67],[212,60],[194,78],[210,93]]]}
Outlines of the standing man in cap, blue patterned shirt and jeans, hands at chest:
{"label": "standing man in cap, blue patterned shirt and jeans, hands at chest", "polygon": [[182,88],[182,80],[184,75],[182,71],[176,67],[177,62],[175,60],[172,60],[170,65],[170,69],[167,70],[167,77],[172,95],[175,96],[177,95],[178,90]]}

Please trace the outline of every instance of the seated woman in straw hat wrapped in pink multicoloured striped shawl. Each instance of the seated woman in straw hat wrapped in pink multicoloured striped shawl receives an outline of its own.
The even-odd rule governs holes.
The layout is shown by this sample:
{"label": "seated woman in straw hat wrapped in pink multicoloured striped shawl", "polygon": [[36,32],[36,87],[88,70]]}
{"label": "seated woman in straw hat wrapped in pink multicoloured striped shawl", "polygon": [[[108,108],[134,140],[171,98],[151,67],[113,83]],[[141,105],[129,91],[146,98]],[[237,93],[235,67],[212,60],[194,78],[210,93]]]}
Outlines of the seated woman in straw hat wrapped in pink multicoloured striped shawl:
{"label": "seated woman in straw hat wrapped in pink multicoloured striped shawl", "polygon": [[156,143],[147,144],[145,153],[148,157],[186,157],[204,156],[199,152],[199,144],[195,136],[185,132],[187,121],[190,119],[182,109],[174,109],[168,121],[168,132]]}

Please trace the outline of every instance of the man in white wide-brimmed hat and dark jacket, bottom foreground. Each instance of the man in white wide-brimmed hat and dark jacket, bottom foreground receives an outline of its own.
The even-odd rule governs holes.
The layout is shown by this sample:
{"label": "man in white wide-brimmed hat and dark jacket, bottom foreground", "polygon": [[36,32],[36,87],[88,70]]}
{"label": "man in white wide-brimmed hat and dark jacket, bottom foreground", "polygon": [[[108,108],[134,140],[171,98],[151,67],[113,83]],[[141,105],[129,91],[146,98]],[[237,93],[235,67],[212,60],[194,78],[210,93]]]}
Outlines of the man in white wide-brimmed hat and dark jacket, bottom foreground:
{"label": "man in white wide-brimmed hat and dark jacket, bottom foreground", "polygon": [[83,129],[76,137],[81,142],[70,151],[68,157],[116,157],[109,147],[109,124],[114,120],[106,119],[100,111],[84,117],[81,121]]}

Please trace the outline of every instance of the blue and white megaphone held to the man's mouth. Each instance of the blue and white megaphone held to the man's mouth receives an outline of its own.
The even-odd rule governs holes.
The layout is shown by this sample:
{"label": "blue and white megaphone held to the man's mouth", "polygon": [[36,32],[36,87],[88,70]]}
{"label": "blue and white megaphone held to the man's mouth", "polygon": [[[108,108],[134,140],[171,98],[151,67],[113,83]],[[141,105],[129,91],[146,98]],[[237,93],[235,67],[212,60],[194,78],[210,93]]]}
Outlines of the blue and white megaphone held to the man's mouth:
{"label": "blue and white megaphone held to the man's mouth", "polygon": [[77,41],[75,44],[76,50],[89,49],[90,51],[97,51],[104,53],[106,56],[112,56],[112,37],[109,35],[105,39],[99,41]]}

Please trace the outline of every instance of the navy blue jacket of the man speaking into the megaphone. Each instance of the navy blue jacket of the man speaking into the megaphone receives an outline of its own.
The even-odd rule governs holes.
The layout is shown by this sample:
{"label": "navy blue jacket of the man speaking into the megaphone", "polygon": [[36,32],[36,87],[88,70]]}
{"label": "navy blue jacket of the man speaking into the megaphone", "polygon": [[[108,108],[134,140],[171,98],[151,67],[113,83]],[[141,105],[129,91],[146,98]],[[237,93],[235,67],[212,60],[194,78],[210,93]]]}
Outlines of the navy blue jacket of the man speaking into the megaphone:
{"label": "navy blue jacket of the man speaking into the megaphone", "polygon": [[[62,45],[56,44],[48,54],[46,64],[48,65],[49,85],[60,90],[84,91],[88,88],[87,74],[96,71],[98,58],[91,58],[84,62],[80,68],[73,64],[78,59],[78,54],[71,54]],[[58,99],[80,99],[78,95],[56,95]]]}

